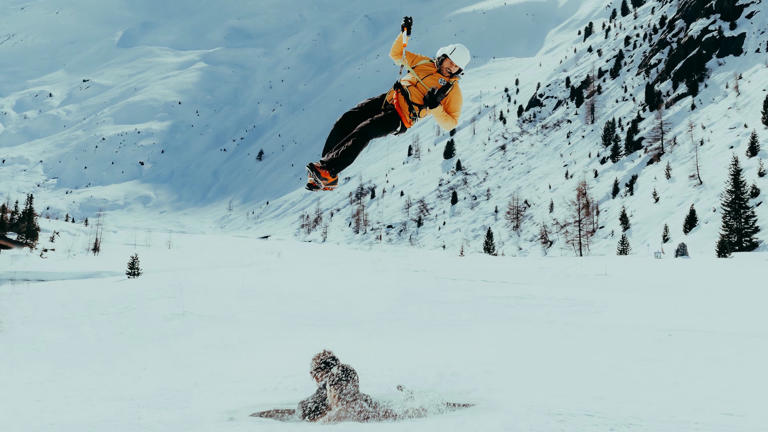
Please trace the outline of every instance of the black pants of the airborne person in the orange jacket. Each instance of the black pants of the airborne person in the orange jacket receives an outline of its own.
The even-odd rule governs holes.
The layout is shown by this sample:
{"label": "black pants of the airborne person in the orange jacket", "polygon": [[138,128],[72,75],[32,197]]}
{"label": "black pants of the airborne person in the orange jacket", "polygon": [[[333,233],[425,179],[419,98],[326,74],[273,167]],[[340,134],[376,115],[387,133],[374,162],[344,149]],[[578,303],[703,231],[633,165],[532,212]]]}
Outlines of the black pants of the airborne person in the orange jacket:
{"label": "black pants of the airborne person in the orange jacket", "polygon": [[337,175],[350,166],[372,139],[387,136],[400,128],[400,116],[384,93],[360,102],[342,115],[325,140],[323,167]]}

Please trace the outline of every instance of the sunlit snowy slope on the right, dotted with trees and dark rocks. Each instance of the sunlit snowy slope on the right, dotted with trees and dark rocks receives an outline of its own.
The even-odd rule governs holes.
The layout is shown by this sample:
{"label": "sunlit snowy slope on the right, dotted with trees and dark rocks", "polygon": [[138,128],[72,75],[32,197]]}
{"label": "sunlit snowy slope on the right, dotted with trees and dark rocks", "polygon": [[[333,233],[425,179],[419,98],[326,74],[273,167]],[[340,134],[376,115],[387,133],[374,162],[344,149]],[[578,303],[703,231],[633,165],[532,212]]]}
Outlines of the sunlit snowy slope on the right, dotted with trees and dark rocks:
{"label": "sunlit snowy slope on the right, dotted with trees and dark rocks", "polygon": [[[761,49],[766,40],[762,30],[765,28],[765,15],[761,14],[760,4],[747,4],[743,14],[735,20],[737,28],[723,31],[726,37],[746,33],[744,54],[713,58],[706,63],[708,73],[695,98],[696,108],[690,110],[690,96],[667,107],[664,118],[670,126],[668,140],[674,137],[677,144],[667,143],[660,163],[648,165],[658,151],[658,144],[649,145],[649,148],[655,148],[650,153],[639,151],[616,164],[600,161],[608,153],[600,144],[605,121],[622,119],[622,144],[624,131],[638,111],[645,119],[639,123],[638,136],[648,137],[654,123],[654,114],[643,108],[647,79],[640,70],[649,44],[640,40],[640,46],[631,51],[624,46],[623,36],[630,34],[631,28],[631,34],[636,35],[633,39],[642,38],[642,33],[650,33],[649,29],[662,14],[672,17],[676,12],[674,2],[647,2],[638,9],[638,18],[630,13],[608,24],[614,29],[605,38],[600,30],[601,23],[609,22],[611,9],[599,2],[584,2],[570,19],[549,33],[536,57],[496,60],[472,68],[466,74],[462,85],[466,89],[464,93],[470,95],[465,111],[469,118],[465,117],[467,120],[458,128],[455,137],[457,157],[450,162],[442,159],[448,135],[436,135],[434,125],[419,125],[409,132],[412,136],[410,140],[395,138],[370,146],[360,162],[345,171],[344,174],[351,180],[348,186],[338,190],[341,192],[338,195],[342,196],[326,194],[307,198],[306,194],[297,192],[285,200],[254,209],[250,220],[264,221],[258,229],[276,230],[272,221],[284,218],[283,233],[289,235],[298,228],[295,216],[298,210],[311,213],[314,207],[319,206],[326,221],[331,210],[334,215],[341,216],[340,221],[336,220],[338,216],[334,216],[329,224],[330,239],[340,237],[345,242],[366,239],[375,242],[381,235],[385,242],[408,241],[427,247],[445,246],[456,252],[464,245],[472,251],[479,251],[483,236],[491,227],[501,252],[538,254],[541,253],[538,245],[541,225],[547,224],[552,232],[554,221],[563,220],[569,213],[568,203],[575,196],[578,181],[587,180],[591,193],[599,200],[600,225],[603,226],[593,239],[592,253],[615,253],[621,234],[618,216],[622,206],[625,206],[632,222],[628,235],[635,253],[670,252],[684,241],[694,255],[711,256],[720,229],[720,193],[725,187],[731,155],[740,157],[749,184],[755,183],[761,189],[768,186],[764,178],[756,175],[759,158],[747,159],[744,156],[747,138],[753,129],[757,130],[761,140],[764,141],[766,136],[765,127],[759,119],[762,100],[766,95],[765,54]],[[702,20],[707,23],[714,20],[714,24],[709,24],[713,30],[718,26],[729,28],[728,23],[718,20],[718,15],[714,18],[703,16],[691,23],[690,32],[695,31],[695,24]],[[596,24],[596,30],[584,41],[583,34],[579,33],[583,33],[589,21]],[[678,35],[673,43],[684,39],[690,32]],[[617,37],[616,33],[621,37]],[[629,48],[633,43],[630,41]],[[572,86],[576,87],[590,70],[595,73],[598,68],[607,71],[613,63],[611,57],[619,49],[627,50],[627,60],[617,79],[610,79],[606,73],[599,80],[601,93],[595,96],[596,121],[585,124],[584,106],[575,108],[568,100],[566,78],[570,77]],[[742,77],[739,80],[739,95],[732,89],[736,74]],[[514,85],[516,79],[520,80],[519,93]],[[536,93],[544,100],[544,106],[527,110],[522,121],[516,121],[515,109],[518,105],[528,105],[537,83],[541,83],[541,90]],[[660,91],[672,92],[669,81],[661,84]],[[508,102],[505,87],[514,102]],[[685,87],[680,85],[678,90],[682,93]],[[555,108],[557,101],[561,102]],[[506,126],[498,121],[502,110],[508,119]],[[476,119],[474,127],[473,119]],[[693,142],[699,143],[704,139],[704,145],[699,147],[700,172],[704,182],[701,186],[689,178],[696,171],[694,144],[687,129],[689,121],[695,126]],[[405,144],[400,143],[407,141],[413,144],[417,139],[422,147],[421,159],[407,158],[403,151]],[[393,147],[397,151],[393,151]],[[760,157],[765,156],[763,151]],[[456,159],[461,159],[467,168],[464,173],[457,175],[450,171]],[[667,162],[672,168],[670,180],[666,180],[664,174]],[[568,179],[565,178],[566,172]],[[629,195],[624,185],[634,174],[638,175],[638,180],[634,194]],[[372,221],[367,236],[354,235],[349,229],[350,216],[355,207],[349,205],[348,196],[344,196],[359,186],[361,178],[365,187],[377,187],[377,197],[365,202]],[[622,186],[622,193],[611,199],[614,179]],[[386,194],[382,193],[382,187],[385,187]],[[660,196],[658,203],[652,199],[654,189]],[[452,190],[458,192],[461,200],[456,206],[449,203]],[[401,191],[403,197],[400,197]],[[521,201],[525,199],[531,204],[519,235],[511,232],[503,218],[507,203],[515,193]],[[424,199],[430,207],[430,214],[424,218],[421,228],[414,223],[416,217],[406,216],[404,211],[409,197],[414,204]],[[554,204],[552,214],[549,212],[550,200]],[[760,201],[762,196],[753,204]],[[691,204],[698,210],[700,225],[689,235],[684,235],[682,224]],[[768,220],[764,206],[757,210],[759,220]],[[661,244],[664,224],[669,225],[672,233],[672,240],[667,245]],[[388,226],[391,228],[388,229]],[[761,233],[761,238],[765,238],[764,235]],[[573,253],[562,237],[553,237],[555,247],[547,253]],[[309,238],[318,238],[318,234]]]}

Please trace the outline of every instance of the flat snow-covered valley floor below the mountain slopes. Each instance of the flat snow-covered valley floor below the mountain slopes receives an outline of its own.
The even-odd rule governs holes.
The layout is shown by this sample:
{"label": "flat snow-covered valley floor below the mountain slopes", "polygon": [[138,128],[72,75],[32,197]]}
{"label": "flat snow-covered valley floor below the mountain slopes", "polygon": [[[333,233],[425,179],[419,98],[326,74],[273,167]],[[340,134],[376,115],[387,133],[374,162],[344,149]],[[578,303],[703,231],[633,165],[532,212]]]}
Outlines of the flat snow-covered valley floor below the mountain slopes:
{"label": "flat snow-covered valley floor below the mountain slopes", "polygon": [[[133,252],[145,274],[129,280]],[[249,414],[311,394],[309,360],[323,348],[396,406],[398,384],[419,405],[476,404],[366,426],[376,430],[754,432],[768,422],[764,253],[459,257],[156,232],[113,236],[99,257],[51,255],[45,267],[24,251],[0,259],[12,264],[0,269],[3,431],[320,427]]]}

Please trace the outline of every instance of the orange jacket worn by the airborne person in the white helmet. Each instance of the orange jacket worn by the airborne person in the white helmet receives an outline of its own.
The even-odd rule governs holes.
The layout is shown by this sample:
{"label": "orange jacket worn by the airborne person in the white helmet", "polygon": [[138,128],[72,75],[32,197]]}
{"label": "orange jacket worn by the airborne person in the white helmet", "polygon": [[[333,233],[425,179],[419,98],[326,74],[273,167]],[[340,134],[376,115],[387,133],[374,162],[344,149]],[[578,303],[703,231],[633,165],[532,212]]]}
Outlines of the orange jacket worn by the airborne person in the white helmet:
{"label": "orange jacket worn by the airborne person in the white helmet", "polygon": [[[395,43],[392,45],[392,50],[389,52],[389,56],[392,57],[392,60],[394,60],[395,64],[402,65],[403,64],[403,39],[402,39],[402,33],[398,35],[397,39],[395,39]],[[429,57],[425,57],[423,55],[414,54],[412,52],[405,52],[405,61],[408,62],[411,67],[415,65],[416,63],[422,61],[422,60],[429,60]],[[431,110],[429,108],[424,107],[424,109],[421,110],[419,113],[419,118],[424,118],[428,115],[433,115],[435,117],[435,121],[437,121],[437,124],[440,125],[445,130],[451,130],[455,129],[456,126],[459,124],[459,116],[461,115],[461,104],[463,103],[463,98],[461,96],[461,89],[459,88],[459,78],[449,78],[446,76],[441,75],[437,71],[437,66],[434,62],[429,62],[425,64],[418,65],[416,67],[413,67],[413,71],[416,72],[416,74],[419,75],[419,78],[429,86],[430,88],[440,88],[443,86],[443,84],[452,81],[453,88],[450,92],[448,92],[448,95],[443,99],[443,101],[440,103],[440,106],[437,108]],[[423,104],[424,103],[424,95],[427,94],[427,91],[429,89],[425,89],[424,86],[410,73],[403,77],[400,82],[403,84],[403,86],[408,90],[408,93],[410,94],[411,101],[415,104]],[[387,101],[392,103],[392,99],[394,98],[395,91],[390,90],[389,93],[387,93]],[[407,107],[405,98],[402,96],[399,97],[398,103],[401,107]],[[406,108],[407,109],[407,108]]]}

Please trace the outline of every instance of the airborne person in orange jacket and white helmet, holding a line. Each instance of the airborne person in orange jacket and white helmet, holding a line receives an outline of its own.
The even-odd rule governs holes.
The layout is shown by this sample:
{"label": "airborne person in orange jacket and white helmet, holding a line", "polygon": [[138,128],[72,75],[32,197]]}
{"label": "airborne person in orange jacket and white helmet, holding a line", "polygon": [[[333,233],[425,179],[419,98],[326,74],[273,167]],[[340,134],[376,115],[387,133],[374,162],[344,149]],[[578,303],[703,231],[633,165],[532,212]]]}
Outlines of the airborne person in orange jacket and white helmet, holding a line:
{"label": "airborne person in orange jacket and white helmet, holding a line", "polygon": [[333,190],[339,173],[375,139],[402,134],[425,117],[433,116],[445,130],[455,129],[461,115],[459,77],[470,61],[467,47],[456,43],[440,48],[435,58],[405,51],[413,19],[404,17],[389,56],[408,74],[389,91],[364,100],[333,125],[322,158],[307,165],[308,190]]}

